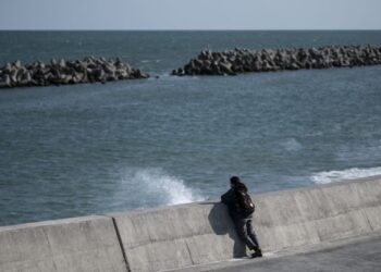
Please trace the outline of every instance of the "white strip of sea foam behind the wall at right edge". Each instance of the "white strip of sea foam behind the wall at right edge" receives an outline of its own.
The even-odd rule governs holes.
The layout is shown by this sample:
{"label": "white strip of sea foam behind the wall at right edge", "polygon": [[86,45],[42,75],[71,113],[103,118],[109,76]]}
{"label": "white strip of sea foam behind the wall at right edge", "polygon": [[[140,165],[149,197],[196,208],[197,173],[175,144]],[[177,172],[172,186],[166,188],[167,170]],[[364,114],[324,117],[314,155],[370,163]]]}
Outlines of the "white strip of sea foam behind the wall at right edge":
{"label": "white strip of sea foam behind the wall at right edge", "polygon": [[316,184],[328,184],[332,182],[341,182],[347,180],[356,180],[373,175],[381,175],[381,166],[369,169],[346,169],[343,171],[327,171],[315,173],[310,180]]}

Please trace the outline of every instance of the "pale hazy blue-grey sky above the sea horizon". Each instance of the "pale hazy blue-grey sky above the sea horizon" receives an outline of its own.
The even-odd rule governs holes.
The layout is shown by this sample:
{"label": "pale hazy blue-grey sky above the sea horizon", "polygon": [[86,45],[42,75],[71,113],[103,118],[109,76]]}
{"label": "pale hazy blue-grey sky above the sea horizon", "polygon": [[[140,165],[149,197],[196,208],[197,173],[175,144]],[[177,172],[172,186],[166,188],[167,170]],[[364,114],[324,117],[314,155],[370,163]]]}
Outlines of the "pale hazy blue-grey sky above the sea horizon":
{"label": "pale hazy blue-grey sky above the sea horizon", "polygon": [[0,29],[381,29],[381,0],[0,0]]}

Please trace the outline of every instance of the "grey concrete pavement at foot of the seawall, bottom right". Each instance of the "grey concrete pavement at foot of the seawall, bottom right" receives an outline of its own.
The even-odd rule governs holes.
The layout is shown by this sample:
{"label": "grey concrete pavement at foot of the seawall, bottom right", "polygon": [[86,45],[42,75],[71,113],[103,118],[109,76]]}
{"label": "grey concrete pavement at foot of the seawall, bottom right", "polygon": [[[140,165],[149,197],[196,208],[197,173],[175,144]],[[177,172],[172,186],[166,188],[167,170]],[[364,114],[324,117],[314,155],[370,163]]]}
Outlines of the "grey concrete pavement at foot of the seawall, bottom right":
{"label": "grey concrete pavement at foot of the seawall, bottom right", "polygon": [[380,272],[381,232],[314,246],[267,254],[260,259],[235,259],[177,272]]}

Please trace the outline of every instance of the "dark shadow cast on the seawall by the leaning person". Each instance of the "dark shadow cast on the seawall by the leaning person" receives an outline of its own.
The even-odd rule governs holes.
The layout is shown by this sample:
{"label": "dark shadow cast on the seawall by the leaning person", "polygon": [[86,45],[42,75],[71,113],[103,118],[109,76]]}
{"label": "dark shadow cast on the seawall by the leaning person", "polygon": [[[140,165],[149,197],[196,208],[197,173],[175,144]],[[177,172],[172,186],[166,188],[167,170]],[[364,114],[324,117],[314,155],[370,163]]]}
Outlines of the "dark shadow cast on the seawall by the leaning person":
{"label": "dark shadow cast on the seawall by the leaning person", "polygon": [[217,235],[228,234],[229,237],[233,240],[233,258],[246,257],[246,246],[236,234],[235,226],[231,217],[229,215],[228,208],[220,202],[212,205],[213,207],[210,210],[208,220],[213,232]]}

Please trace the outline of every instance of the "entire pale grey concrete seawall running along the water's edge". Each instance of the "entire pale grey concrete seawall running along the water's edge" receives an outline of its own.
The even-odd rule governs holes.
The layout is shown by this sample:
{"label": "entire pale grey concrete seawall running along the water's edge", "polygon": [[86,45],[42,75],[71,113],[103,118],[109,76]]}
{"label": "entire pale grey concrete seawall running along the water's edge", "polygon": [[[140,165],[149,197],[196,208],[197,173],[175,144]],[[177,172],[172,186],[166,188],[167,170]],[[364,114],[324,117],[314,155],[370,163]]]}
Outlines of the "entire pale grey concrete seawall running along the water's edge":
{"label": "entire pale grey concrete seawall running along the water's edge", "polygon": [[[265,251],[381,230],[381,176],[253,198]],[[216,202],[0,227],[0,271],[157,271],[244,255]]]}

